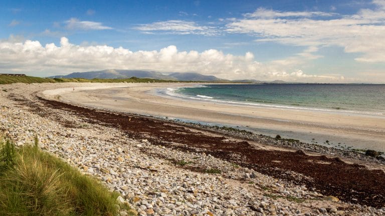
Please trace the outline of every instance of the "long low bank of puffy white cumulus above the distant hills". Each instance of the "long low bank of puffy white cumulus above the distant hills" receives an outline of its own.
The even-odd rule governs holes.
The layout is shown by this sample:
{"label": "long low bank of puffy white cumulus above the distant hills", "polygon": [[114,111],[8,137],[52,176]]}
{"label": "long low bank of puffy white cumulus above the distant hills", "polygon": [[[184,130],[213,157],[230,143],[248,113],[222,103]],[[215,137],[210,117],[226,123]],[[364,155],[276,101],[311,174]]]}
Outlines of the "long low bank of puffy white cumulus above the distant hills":
{"label": "long low bank of puffy white cumulus above the distant hills", "polygon": [[43,46],[36,40],[0,41],[0,72],[18,71],[49,76],[106,68],[162,72],[196,71],[228,79],[285,78],[285,80],[330,81],[337,80],[340,76],[336,74],[326,77],[299,73],[298,69],[283,61],[261,63],[254,59],[252,52],[233,55],[216,49],[203,52],[179,51],[174,45],[160,50],[131,51],[123,47],[114,48],[107,45],[76,45],[70,43],[66,37],[61,38],[60,46],[54,43]]}

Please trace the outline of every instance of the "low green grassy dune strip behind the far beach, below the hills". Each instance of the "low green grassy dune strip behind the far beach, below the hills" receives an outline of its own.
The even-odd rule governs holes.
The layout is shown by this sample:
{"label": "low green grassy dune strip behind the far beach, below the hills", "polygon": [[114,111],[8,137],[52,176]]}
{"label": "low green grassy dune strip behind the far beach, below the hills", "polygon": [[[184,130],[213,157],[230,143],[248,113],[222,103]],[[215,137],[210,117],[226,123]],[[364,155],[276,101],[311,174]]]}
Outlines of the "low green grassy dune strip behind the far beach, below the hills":
{"label": "low green grassy dune strip behind the far beach, below the hills", "polygon": [[42,78],[35,76],[9,76],[0,74],[0,84],[12,84],[12,83],[43,83],[43,82],[178,82],[174,80],[160,80],[151,78],[137,78],[135,76],[130,78],[118,78],[118,79],[85,79],[85,78]]}

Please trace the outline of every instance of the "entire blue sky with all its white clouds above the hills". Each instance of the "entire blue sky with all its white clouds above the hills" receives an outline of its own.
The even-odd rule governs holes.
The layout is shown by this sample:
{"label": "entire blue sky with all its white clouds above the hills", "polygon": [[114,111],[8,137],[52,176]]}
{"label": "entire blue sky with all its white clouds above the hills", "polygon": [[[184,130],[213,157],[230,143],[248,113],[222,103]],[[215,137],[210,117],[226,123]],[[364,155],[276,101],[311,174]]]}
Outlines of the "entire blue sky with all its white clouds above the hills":
{"label": "entire blue sky with all its white clouds above the hills", "polygon": [[2,0],[0,73],[385,83],[385,0]]}

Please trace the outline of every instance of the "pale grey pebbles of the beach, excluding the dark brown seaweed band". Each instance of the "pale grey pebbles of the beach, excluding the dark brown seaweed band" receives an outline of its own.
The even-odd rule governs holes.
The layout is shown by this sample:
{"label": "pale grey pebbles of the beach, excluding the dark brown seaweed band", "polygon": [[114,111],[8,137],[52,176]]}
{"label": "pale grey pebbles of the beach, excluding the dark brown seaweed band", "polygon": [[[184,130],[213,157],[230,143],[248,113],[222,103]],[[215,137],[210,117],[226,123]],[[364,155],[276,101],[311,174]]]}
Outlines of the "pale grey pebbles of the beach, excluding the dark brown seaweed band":
{"label": "pale grey pebbles of the beach, excluding the dark brown seaweed band", "polygon": [[[131,206],[129,212],[121,211],[120,215],[385,214],[383,202],[382,205],[376,203],[372,206],[358,199],[344,201],[336,194],[324,194],[317,187],[295,180],[314,178],[312,176],[288,169],[287,175],[296,178],[283,179],[220,154],[209,153],[205,146],[193,147],[191,144],[191,147],[186,147],[182,141],[164,141],[167,137],[159,137],[159,134],[154,138],[151,132],[129,132],[123,127],[79,115],[71,108],[58,108],[55,103],[42,99],[42,92],[48,89],[98,88],[102,85],[105,84],[0,85],[0,134],[11,137],[17,145],[33,143],[37,135],[42,149],[100,179],[110,190],[119,192],[119,201]],[[109,85],[122,86],[121,83]],[[50,99],[60,100],[55,96]],[[132,115],[132,120],[136,117]],[[173,123],[164,121],[164,124]],[[274,141],[263,136],[247,137],[253,134],[234,135],[199,125],[188,126],[180,128],[179,132],[199,131],[208,136],[224,137],[222,141],[247,139],[250,143],[264,146],[263,150],[295,152],[302,149],[302,153],[326,155],[328,159],[338,156],[347,163],[358,163],[364,170],[378,170],[380,177],[384,175],[383,161],[362,153],[307,143]],[[177,127],[183,127],[183,124]],[[237,154],[234,157],[239,155],[242,156]],[[325,163],[331,161],[328,159]],[[380,187],[383,189],[383,185]]]}

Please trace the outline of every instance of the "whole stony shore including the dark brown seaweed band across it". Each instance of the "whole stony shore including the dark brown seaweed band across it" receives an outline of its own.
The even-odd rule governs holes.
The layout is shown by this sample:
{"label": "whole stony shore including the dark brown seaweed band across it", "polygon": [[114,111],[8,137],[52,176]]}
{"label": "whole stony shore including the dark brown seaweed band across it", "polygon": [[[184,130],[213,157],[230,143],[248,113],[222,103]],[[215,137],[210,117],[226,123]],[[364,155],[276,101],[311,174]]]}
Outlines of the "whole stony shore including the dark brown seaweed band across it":
{"label": "whole stony shore including the dark brown seaweed band across it", "polygon": [[[10,131],[9,134],[18,140],[29,140],[33,139],[35,134],[29,128],[39,128],[35,132],[39,133],[44,149],[59,155],[83,172],[97,176],[112,190],[124,194],[123,197],[142,214],[147,211],[146,214],[150,215],[167,214],[167,212],[173,214],[174,211],[176,213],[184,210],[197,215],[206,215],[209,211],[215,215],[262,213],[301,215],[310,212],[311,215],[322,215],[326,212],[338,215],[385,213],[385,208],[381,208],[383,203],[372,202],[379,207],[366,207],[363,203],[368,203],[369,200],[365,202],[364,197],[357,197],[358,199],[354,200],[351,199],[354,197],[350,196],[351,194],[339,194],[338,191],[345,191],[340,186],[346,186],[348,188],[346,192],[348,192],[351,190],[349,186],[354,184],[336,181],[340,180],[339,171],[341,173],[354,171],[356,173],[354,178],[350,176],[346,179],[352,182],[364,180],[358,185],[372,186],[375,183],[370,183],[371,181],[366,177],[372,180],[380,179],[375,176],[383,175],[381,164],[365,160],[349,161],[341,157],[343,161],[349,162],[345,163],[331,155],[324,157],[311,152],[304,154],[301,151],[295,152],[292,148],[272,146],[262,142],[247,141],[249,144],[246,144],[242,139],[226,135],[225,137],[223,133],[210,133],[196,127],[183,127],[173,122],[159,121],[130,113],[88,109],[36,97],[36,92],[45,89],[72,88],[73,86],[81,87],[87,84],[5,86],[7,92],[0,92],[2,101],[0,115],[5,119],[5,121],[2,120],[2,130]],[[198,136],[195,136],[196,134]],[[176,139],[171,139],[172,137]],[[191,141],[193,140],[190,139],[191,137],[200,138],[199,140],[203,142]],[[205,141],[210,142],[210,140],[216,140],[218,144],[247,145],[248,147],[245,148],[247,152],[237,152],[234,149],[232,154],[221,157],[220,152],[223,150],[209,149],[210,145],[205,144]],[[267,142],[270,141],[267,140]],[[286,142],[286,140],[279,141],[282,144]],[[189,146],[190,144],[200,145]],[[242,155],[254,150],[258,155],[268,157],[261,161],[260,164],[264,164],[261,167],[250,168],[248,163],[242,162]],[[285,158],[280,158],[281,162],[279,162],[273,159],[275,154],[288,155],[287,161],[291,162],[285,162]],[[239,164],[230,162],[228,158],[239,161]],[[353,163],[364,164],[364,166]],[[283,165],[288,167],[285,168]],[[311,180],[312,177],[301,174],[301,169],[293,171],[293,168],[303,165],[310,165],[309,170],[314,170],[311,167],[322,168],[320,170],[329,170],[328,167],[337,168],[330,169],[330,174],[327,176],[314,178],[316,181],[308,182],[311,186],[311,182],[330,180],[333,188],[331,190],[324,188],[323,192],[322,188],[302,185],[300,182],[303,181],[300,179],[306,181]],[[344,171],[345,168],[352,169]],[[211,173],[217,170],[219,173]],[[278,175],[279,173],[283,175]],[[293,181],[289,180],[290,176],[294,177]],[[371,196],[376,196],[380,190],[381,188],[378,191],[368,191],[372,191]],[[330,201],[332,198],[328,195],[335,195],[345,201]],[[382,200],[382,194],[378,195],[374,200]],[[163,198],[159,199],[159,197]],[[185,201],[175,202],[181,197]],[[347,201],[349,197],[350,201]],[[328,198],[330,198],[329,201],[324,200]],[[148,207],[143,206],[142,203],[145,202],[153,204],[147,205]]]}

